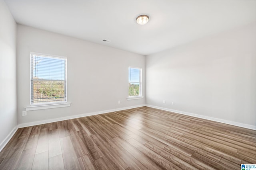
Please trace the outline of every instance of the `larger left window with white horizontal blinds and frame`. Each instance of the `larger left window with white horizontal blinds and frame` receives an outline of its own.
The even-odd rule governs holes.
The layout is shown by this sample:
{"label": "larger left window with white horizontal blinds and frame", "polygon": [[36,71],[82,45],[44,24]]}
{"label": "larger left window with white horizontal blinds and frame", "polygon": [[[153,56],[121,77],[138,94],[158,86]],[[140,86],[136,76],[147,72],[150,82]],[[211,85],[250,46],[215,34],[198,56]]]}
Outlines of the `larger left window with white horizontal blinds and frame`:
{"label": "larger left window with white horizontal blinds and frame", "polygon": [[67,59],[30,53],[31,105],[67,102]]}

